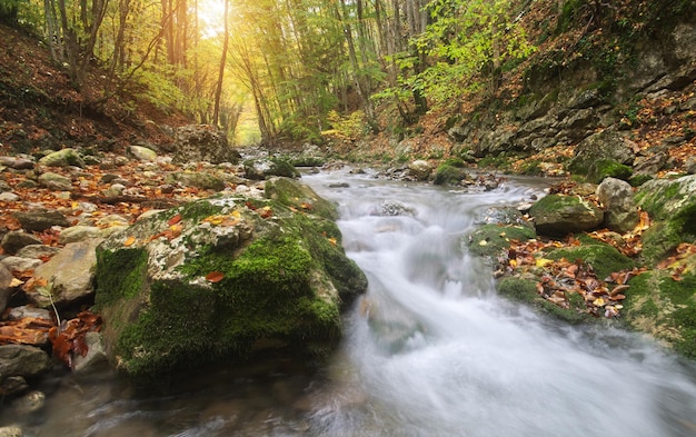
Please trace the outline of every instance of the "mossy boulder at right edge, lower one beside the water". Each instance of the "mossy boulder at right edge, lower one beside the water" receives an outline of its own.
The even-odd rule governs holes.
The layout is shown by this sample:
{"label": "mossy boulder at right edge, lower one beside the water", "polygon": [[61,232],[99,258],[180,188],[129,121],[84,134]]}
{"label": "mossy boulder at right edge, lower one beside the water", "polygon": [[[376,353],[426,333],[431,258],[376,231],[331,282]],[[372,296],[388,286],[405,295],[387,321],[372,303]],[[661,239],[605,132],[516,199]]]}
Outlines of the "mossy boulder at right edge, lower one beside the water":
{"label": "mossy boulder at right edge, lower one beside the water", "polygon": [[692,269],[678,279],[667,270],[632,278],[622,314],[634,329],[696,358],[696,275]]}

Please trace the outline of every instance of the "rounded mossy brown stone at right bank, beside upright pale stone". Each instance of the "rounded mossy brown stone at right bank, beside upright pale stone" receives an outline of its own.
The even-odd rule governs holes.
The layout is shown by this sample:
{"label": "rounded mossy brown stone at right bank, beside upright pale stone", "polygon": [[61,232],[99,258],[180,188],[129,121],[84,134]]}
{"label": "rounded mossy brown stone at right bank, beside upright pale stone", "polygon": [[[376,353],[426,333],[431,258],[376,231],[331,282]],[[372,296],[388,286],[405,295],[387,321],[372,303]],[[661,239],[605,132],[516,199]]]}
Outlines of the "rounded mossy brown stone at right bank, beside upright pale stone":
{"label": "rounded mossy brown stone at right bank, beside upright pale stone", "polygon": [[576,196],[549,195],[529,210],[538,234],[565,236],[591,230],[601,225],[604,211]]}

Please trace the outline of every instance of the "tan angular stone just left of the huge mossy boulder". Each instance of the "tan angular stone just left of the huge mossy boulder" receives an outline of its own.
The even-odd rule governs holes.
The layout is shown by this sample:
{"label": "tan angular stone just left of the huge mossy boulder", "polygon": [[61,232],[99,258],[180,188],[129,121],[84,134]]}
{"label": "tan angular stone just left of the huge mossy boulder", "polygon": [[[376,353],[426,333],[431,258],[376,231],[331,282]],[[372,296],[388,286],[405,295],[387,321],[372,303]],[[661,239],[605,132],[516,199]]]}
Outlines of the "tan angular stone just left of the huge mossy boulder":
{"label": "tan angular stone just left of the huge mossy boulder", "polygon": [[[97,264],[95,248],[100,242],[100,239],[91,238],[68,244],[53,258],[34,270],[36,280],[44,279],[48,282],[56,307],[66,307],[93,292]],[[41,289],[27,290],[27,297],[39,307],[51,306],[51,299]]]}

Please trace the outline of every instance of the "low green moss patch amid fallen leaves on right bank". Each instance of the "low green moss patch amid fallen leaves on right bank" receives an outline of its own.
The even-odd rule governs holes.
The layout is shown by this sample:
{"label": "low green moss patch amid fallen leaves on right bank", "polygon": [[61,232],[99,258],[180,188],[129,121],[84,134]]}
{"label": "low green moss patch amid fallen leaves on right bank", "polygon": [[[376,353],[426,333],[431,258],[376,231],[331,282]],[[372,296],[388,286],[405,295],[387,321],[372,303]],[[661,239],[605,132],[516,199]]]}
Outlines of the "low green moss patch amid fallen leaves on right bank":
{"label": "low green moss patch amid fallen leaves on right bank", "polygon": [[614,247],[601,242],[551,250],[546,257],[554,260],[566,258],[570,262],[581,259],[593,267],[599,279],[604,279],[615,271],[632,269],[636,265],[634,260]]}

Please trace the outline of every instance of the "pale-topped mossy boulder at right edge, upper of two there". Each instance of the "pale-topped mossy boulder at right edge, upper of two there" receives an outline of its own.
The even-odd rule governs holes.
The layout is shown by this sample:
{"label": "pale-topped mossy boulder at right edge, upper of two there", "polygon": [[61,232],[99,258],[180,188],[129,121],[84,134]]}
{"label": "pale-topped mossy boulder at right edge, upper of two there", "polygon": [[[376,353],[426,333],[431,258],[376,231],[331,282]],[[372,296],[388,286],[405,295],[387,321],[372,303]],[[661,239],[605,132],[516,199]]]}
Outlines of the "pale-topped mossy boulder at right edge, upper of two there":
{"label": "pale-topped mossy boulder at right edge, upper of two there", "polygon": [[696,241],[696,175],[645,182],[634,197],[655,225],[643,236],[643,255],[654,266],[680,242]]}

